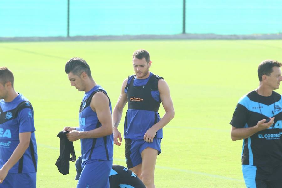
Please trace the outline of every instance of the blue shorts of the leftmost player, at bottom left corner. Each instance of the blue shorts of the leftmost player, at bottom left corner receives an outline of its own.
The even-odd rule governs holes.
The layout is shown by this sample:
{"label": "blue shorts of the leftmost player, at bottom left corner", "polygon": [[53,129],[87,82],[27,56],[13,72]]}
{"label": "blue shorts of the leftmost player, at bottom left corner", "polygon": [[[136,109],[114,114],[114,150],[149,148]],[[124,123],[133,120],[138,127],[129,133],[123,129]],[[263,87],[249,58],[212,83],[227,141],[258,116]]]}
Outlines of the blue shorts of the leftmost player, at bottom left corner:
{"label": "blue shorts of the leftmost player, at bottom left corner", "polygon": [[36,172],[31,173],[9,173],[0,184],[0,188],[20,187],[36,188]]}

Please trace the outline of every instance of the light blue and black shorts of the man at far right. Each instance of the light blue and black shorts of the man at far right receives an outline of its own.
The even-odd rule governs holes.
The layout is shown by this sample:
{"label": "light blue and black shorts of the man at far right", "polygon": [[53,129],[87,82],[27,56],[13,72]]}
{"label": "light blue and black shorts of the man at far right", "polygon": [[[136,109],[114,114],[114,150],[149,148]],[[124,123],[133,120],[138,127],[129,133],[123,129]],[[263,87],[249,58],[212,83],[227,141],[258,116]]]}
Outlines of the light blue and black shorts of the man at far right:
{"label": "light blue and black shorts of the man at far right", "polygon": [[242,172],[247,188],[281,188],[281,165],[275,168],[242,165]]}

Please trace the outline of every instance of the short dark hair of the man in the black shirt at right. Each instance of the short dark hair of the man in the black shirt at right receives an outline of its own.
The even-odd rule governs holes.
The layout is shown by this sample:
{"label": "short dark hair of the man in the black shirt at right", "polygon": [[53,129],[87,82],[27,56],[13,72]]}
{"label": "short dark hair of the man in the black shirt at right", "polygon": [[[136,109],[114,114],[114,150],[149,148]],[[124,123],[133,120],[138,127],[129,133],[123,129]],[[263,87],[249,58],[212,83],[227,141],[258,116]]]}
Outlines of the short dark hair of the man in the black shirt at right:
{"label": "short dark hair of the man in the black shirt at right", "polygon": [[259,75],[259,81],[262,81],[262,76],[267,75],[270,76],[270,74],[273,72],[272,67],[281,67],[282,63],[275,61],[275,60],[264,60],[259,64],[258,68],[258,75]]}

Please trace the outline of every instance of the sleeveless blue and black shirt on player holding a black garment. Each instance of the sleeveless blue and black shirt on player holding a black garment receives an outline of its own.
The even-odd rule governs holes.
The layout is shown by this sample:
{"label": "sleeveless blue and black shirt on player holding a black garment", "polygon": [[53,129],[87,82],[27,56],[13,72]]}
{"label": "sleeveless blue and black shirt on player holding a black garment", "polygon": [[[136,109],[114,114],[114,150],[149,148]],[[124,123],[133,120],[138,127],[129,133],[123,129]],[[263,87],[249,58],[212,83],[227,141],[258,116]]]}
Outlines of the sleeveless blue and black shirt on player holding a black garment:
{"label": "sleeveless blue and black shirt on player holding a black garment", "polygon": [[[107,95],[107,92],[99,85],[85,93],[79,112],[79,129],[81,131],[90,131],[102,126],[96,112],[90,107],[91,99],[96,92],[103,92]],[[109,103],[112,112],[111,101]],[[100,138],[80,139],[80,143],[82,162],[89,159],[113,160],[113,134]]]}

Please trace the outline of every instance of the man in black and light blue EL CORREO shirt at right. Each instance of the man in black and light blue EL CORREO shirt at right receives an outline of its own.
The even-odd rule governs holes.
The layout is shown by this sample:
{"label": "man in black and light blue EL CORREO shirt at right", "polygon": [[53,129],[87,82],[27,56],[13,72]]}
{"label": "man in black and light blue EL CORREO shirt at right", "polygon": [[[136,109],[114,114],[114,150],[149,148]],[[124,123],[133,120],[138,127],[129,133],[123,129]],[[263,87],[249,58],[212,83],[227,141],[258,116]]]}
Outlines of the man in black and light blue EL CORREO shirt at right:
{"label": "man in black and light blue EL CORREO shirt at right", "polygon": [[242,171],[246,187],[282,187],[281,63],[259,64],[259,87],[243,96],[230,122],[231,139],[242,140]]}

